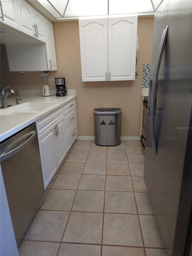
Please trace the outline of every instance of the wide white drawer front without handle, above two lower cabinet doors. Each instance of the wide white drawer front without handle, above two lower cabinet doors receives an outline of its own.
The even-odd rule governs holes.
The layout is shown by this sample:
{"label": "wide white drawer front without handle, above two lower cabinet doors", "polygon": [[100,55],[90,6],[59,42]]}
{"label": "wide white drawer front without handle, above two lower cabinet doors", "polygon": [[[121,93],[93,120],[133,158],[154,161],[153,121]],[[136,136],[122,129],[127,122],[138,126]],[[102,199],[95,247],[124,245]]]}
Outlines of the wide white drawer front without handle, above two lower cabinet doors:
{"label": "wide white drawer front without handle, above two lower cabinet doors", "polygon": [[63,116],[63,107],[60,107],[36,122],[38,136],[46,131],[51,125],[53,125],[58,119]]}

